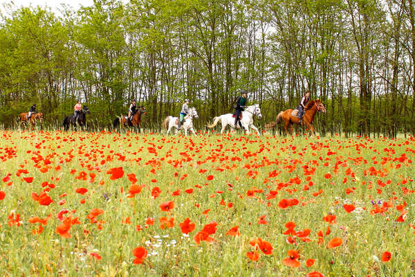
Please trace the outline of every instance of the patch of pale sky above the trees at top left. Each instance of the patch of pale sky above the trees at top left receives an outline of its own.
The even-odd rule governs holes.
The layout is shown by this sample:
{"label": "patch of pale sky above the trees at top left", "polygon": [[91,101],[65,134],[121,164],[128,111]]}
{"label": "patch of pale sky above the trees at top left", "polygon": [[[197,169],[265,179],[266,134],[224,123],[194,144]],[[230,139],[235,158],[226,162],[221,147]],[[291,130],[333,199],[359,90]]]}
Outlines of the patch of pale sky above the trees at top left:
{"label": "patch of pale sky above the trees at top left", "polygon": [[78,10],[81,4],[82,6],[92,6],[93,0],[0,0],[0,12],[7,15],[8,12],[21,8],[21,6],[41,6],[43,8],[48,6],[52,12],[60,15],[59,9],[62,9],[62,3],[72,7],[71,10]]}

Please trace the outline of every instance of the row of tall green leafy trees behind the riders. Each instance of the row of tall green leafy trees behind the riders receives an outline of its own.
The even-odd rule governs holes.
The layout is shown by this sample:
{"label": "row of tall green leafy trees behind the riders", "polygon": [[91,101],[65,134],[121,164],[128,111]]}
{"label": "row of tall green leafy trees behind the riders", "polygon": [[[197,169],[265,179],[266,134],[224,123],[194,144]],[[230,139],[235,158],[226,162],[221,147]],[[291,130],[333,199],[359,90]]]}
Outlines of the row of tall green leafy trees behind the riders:
{"label": "row of tall green leafy trees behind the riders", "polygon": [[62,120],[81,98],[109,125],[131,98],[160,125],[190,98],[200,123],[241,89],[264,120],[305,90],[328,113],[317,129],[415,133],[413,0],[96,0],[57,16],[19,8],[0,25],[0,120],[33,103]]}

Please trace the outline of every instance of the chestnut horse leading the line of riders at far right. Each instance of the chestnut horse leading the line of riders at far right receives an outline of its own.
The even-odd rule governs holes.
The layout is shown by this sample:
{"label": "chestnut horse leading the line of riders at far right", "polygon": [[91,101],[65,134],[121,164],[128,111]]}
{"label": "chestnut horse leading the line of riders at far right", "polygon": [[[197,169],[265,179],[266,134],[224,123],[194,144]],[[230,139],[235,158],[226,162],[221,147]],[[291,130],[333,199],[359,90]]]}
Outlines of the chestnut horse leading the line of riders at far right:
{"label": "chestnut horse leading the line of riders at far right", "polygon": [[290,134],[293,134],[293,125],[301,124],[306,125],[310,130],[311,134],[315,135],[315,129],[313,127],[314,116],[317,111],[321,111],[323,114],[326,114],[326,108],[324,107],[320,99],[308,101],[306,108],[304,109],[305,113],[302,118],[302,123],[299,123],[299,118],[297,117],[297,109],[287,109],[286,111],[280,111],[277,115],[275,122],[268,123],[265,127],[270,129],[275,127],[278,123],[284,120],[284,129],[288,136],[288,127],[290,127]]}

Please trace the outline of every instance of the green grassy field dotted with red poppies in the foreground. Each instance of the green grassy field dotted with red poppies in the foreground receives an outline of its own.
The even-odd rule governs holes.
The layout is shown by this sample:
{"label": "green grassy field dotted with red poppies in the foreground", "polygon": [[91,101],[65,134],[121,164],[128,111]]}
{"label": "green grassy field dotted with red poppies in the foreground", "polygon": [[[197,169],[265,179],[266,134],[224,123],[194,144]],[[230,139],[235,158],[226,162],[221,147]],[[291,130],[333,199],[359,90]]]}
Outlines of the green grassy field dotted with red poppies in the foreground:
{"label": "green grassy field dotted with red poppies in the foreground", "polygon": [[1,276],[414,274],[414,137],[0,136]]}

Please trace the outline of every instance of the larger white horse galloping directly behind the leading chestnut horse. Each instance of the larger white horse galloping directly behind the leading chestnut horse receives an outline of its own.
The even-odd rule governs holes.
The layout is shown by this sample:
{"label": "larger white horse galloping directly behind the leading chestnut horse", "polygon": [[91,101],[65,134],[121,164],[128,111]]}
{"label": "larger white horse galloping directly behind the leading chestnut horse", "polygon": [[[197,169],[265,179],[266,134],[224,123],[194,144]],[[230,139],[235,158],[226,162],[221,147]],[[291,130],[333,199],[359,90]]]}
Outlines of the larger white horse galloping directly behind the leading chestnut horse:
{"label": "larger white horse galloping directly behind the leading chestnut horse", "polygon": [[233,129],[237,128],[240,129],[241,125],[245,129],[246,134],[249,134],[249,127],[252,129],[255,129],[257,133],[259,134],[258,128],[254,125],[254,116],[257,116],[257,118],[261,119],[261,109],[259,109],[259,105],[251,105],[246,107],[244,111],[242,111],[241,114],[241,120],[240,125],[235,126],[235,118],[232,114],[222,114],[221,116],[215,116],[213,118],[213,123],[211,125],[208,125],[209,128],[215,127],[219,122],[222,125],[221,134],[225,131],[226,126],[230,125],[230,127]]}

